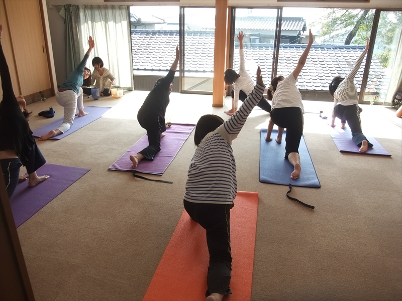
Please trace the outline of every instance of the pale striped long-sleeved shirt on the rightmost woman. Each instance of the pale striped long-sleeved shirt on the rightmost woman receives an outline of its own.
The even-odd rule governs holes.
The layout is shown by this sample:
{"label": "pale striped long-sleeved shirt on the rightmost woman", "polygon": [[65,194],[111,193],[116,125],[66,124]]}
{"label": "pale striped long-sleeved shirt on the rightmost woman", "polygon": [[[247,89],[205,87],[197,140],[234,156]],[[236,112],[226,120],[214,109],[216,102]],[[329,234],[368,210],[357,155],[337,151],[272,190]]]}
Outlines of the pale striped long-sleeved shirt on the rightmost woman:
{"label": "pale striped long-sleeved shirt on the rightmost woman", "polygon": [[[359,58],[356,61],[356,64],[354,65],[352,71],[348,74],[348,76],[345,77],[343,81],[339,84],[338,88],[336,89],[334,93],[334,107],[337,104],[341,105],[353,105],[357,104],[359,101],[359,98],[357,96],[357,90],[354,84],[354,79],[357,74],[357,71],[359,71],[361,63],[363,62],[364,57],[366,56],[367,50],[364,50]],[[335,122],[335,113],[334,110],[332,110],[332,123]]]}

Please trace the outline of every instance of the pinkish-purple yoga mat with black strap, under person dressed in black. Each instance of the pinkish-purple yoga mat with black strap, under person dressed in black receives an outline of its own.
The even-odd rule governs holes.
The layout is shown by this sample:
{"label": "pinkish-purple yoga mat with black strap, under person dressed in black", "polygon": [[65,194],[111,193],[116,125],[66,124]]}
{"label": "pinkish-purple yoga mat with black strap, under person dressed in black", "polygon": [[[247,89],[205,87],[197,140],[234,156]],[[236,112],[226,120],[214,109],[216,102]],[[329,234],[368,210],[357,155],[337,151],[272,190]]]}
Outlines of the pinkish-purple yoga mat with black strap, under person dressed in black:
{"label": "pinkish-purple yoga mat with black strap, under person dressed in black", "polygon": [[[194,127],[194,124],[172,123],[165,131],[166,136],[162,137],[160,141],[161,151],[159,154],[155,156],[153,161],[141,160],[135,170],[145,174],[163,175]],[[144,135],[109,169],[114,171],[132,171],[133,163],[130,160],[130,156],[137,154],[147,146],[148,136]]]}

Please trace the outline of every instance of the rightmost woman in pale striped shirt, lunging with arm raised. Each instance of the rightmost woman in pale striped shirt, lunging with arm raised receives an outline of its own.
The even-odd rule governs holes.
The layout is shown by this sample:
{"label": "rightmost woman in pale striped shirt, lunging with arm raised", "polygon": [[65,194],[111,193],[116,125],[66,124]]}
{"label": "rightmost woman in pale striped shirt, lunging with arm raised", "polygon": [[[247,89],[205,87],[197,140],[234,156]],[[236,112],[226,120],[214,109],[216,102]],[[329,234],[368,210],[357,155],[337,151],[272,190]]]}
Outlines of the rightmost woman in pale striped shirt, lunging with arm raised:
{"label": "rightmost woman in pale striped shirt, lunging with arm raised", "polygon": [[335,76],[329,85],[331,96],[334,98],[334,109],[332,111],[331,126],[335,126],[335,117],[342,120],[341,128],[345,127],[345,123],[348,122],[350,130],[352,131],[352,140],[361,153],[367,152],[368,147],[373,147],[361,129],[360,112],[358,104],[357,90],[354,84],[354,78],[359,71],[361,63],[366,56],[369,47],[369,39],[367,38],[366,48],[357,59],[352,71],[342,78]]}

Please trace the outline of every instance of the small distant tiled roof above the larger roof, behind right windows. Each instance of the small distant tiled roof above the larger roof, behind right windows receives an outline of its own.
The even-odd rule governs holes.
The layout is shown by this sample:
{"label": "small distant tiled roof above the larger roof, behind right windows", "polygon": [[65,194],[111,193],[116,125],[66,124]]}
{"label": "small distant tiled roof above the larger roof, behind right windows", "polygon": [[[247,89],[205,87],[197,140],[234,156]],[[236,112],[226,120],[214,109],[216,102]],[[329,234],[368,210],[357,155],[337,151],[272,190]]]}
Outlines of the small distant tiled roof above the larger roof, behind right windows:
{"label": "small distant tiled roof above the larger roof, behind right windows", "polygon": [[[236,29],[275,31],[276,17],[236,17]],[[303,17],[283,17],[282,30],[306,31]]]}

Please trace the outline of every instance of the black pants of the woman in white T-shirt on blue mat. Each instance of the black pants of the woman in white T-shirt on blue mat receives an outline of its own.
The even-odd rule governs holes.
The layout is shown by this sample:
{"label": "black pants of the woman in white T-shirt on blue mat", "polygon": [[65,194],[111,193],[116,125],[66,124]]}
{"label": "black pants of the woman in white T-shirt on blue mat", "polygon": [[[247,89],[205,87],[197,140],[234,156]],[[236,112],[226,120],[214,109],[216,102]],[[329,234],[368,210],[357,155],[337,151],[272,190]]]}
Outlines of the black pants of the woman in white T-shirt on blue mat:
{"label": "black pants of the woman in white T-shirt on blue mat", "polygon": [[304,126],[302,109],[299,107],[276,108],[271,111],[271,119],[277,126],[286,128],[285,159],[290,153],[298,154]]}

